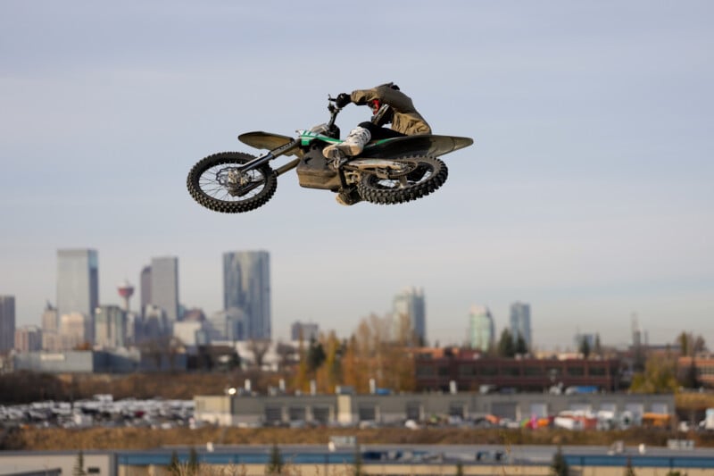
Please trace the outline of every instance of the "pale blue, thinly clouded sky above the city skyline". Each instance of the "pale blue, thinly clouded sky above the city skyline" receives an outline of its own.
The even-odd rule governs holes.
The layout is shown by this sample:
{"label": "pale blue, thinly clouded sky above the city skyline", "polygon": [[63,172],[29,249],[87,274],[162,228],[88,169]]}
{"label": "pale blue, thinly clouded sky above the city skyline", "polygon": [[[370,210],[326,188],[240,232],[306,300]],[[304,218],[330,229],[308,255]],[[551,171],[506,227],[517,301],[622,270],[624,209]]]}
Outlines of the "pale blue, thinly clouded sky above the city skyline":
{"label": "pale blue, thinly clouded sky above the city skyline", "polygon": [[[221,254],[262,249],[273,329],[346,336],[424,288],[428,338],[469,306],[500,331],[532,308],[540,347],[573,334],[714,344],[710,2],[9,0],[0,3],[0,294],[18,324],[55,300],[56,250],[99,253],[100,301],[179,256],[181,302],[221,306]],[[212,213],[190,167],[239,133],[292,135],[326,98],[393,80],[440,134],[449,179],[406,205],[336,205],[294,174],[262,208]],[[348,130],[369,115],[350,106]],[[137,296],[134,304],[138,302]]]}

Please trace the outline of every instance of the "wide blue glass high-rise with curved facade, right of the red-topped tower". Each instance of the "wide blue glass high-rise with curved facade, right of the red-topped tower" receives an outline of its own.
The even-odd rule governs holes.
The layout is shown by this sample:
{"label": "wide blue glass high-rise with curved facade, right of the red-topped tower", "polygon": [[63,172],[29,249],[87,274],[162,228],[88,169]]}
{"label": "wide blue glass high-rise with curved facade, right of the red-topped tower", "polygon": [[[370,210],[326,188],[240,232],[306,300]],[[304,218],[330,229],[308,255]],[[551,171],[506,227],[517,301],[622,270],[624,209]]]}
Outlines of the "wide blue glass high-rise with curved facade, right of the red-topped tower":
{"label": "wide blue glass high-rise with curved facade, right of the red-topped tower", "polygon": [[245,338],[270,339],[270,255],[267,251],[223,254],[223,309],[245,313]]}

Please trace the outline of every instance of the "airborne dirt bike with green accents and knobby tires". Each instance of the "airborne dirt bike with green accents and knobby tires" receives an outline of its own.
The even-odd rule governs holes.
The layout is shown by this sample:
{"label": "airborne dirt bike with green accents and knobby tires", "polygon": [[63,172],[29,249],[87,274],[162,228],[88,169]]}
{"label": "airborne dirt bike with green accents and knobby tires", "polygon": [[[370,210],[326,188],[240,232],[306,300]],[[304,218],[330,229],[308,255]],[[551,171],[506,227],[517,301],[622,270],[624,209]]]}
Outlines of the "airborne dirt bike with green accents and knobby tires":
{"label": "airborne dirt bike with green accents and knobby tires", "polygon": [[[241,134],[241,142],[269,152],[260,156],[242,152],[209,155],[188,172],[188,192],[215,212],[248,212],[270,200],[279,175],[296,169],[301,187],[343,193],[355,202],[401,204],[427,196],[444,184],[448,170],[439,155],[473,144],[471,138],[404,136],[372,141],[354,157],[328,159],[322,149],[342,142],[335,123],[341,108],[334,103],[328,96],[327,123],[298,130],[297,138],[262,131]],[[381,125],[388,107],[383,104],[372,121]],[[271,168],[270,161],[281,155],[295,158]]]}

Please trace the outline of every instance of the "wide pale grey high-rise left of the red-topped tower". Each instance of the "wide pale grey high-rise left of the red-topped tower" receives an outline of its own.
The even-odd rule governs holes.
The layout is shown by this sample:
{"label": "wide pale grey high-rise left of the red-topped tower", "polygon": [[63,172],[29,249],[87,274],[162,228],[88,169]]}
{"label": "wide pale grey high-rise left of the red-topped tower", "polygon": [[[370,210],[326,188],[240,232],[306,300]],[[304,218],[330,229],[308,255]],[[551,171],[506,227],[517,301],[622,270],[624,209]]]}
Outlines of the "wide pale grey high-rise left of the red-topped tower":
{"label": "wide pale grey high-rise left of the red-topped tower", "polygon": [[[93,322],[99,305],[99,264],[93,249],[57,251],[57,316],[81,313]],[[89,339],[91,341],[91,331]]]}

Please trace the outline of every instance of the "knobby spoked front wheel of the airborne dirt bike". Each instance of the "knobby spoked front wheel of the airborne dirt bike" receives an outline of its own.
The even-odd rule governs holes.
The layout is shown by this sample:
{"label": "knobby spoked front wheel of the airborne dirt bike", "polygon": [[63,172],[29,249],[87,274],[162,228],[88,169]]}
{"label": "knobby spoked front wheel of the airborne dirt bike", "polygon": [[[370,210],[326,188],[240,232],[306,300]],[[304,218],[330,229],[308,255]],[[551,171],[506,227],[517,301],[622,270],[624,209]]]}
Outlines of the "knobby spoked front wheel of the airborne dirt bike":
{"label": "knobby spoked front wheel of the airborne dirt bike", "polygon": [[278,178],[267,163],[251,171],[237,165],[255,157],[242,152],[221,152],[203,158],[188,172],[188,193],[214,212],[243,213],[265,205],[278,188]]}

